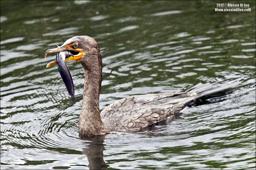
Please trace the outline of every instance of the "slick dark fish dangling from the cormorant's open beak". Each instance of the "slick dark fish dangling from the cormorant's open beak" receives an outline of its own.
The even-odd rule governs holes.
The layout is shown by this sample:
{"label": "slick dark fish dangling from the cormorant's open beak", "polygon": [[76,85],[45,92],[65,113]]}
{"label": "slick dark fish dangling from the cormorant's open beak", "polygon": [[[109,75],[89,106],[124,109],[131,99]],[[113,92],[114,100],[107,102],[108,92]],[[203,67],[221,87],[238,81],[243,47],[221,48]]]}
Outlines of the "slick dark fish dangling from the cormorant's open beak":
{"label": "slick dark fish dangling from the cormorant's open beak", "polygon": [[76,103],[75,99],[75,88],[74,88],[74,83],[73,79],[71,77],[71,74],[69,72],[69,68],[67,67],[67,64],[65,62],[65,59],[74,56],[72,52],[70,51],[60,51],[56,55],[56,60],[57,60],[57,66],[59,70],[59,74],[61,75],[61,78],[69,92],[69,95],[72,98],[73,103]]}

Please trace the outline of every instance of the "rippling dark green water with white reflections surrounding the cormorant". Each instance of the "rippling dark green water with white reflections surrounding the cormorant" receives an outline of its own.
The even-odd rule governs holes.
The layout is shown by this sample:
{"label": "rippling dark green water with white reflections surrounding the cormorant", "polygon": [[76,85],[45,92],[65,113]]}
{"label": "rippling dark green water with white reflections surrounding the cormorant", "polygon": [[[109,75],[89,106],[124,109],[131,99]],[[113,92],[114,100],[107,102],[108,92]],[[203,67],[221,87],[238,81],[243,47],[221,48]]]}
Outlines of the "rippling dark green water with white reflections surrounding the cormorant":
{"label": "rippling dark green water with white reflections surrounding the cormorant", "polygon": [[[250,12],[215,12],[216,4]],[[255,169],[255,1],[1,1],[1,169]],[[244,77],[173,122],[81,139],[77,103],[44,53],[75,35],[102,52],[100,109],[123,97]]]}

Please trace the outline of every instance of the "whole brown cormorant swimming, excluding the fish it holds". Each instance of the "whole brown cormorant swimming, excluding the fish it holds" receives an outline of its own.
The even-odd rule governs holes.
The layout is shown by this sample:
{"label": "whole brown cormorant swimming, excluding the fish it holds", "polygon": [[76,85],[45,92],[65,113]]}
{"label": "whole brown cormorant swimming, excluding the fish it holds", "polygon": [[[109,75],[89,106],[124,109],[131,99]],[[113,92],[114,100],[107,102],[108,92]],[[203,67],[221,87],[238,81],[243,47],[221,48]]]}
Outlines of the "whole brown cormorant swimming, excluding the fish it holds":
{"label": "whole brown cormorant swimming, excluding the fish it holds", "polygon": [[[99,109],[99,96],[102,81],[102,57],[97,42],[88,36],[75,36],[62,46],[49,49],[45,53],[71,51],[66,61],[79,61],[84,68],[84,90],[82,110],[79,118],[79,132],[85,136],[104,135],[119,129],[136,129],[164,121],[179,113],[198,98],[216,93],[241,82],[242,78],[222,84],[197,84],[189,92],[146,94],[123,98]],[[47,65],[56,64],[53,61]]]}

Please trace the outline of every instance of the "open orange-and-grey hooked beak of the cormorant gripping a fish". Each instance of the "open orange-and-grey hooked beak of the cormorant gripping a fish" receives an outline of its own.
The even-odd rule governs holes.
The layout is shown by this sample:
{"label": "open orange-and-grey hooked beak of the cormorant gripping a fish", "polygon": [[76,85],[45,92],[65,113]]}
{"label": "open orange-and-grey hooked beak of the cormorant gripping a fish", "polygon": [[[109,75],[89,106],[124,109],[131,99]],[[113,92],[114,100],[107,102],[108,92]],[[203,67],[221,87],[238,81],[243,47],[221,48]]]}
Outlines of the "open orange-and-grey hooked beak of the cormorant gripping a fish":
{"label": "open orange-and-grey hooked beak of the cormorant gripping a fish", "polygon": [[[57,48],[46,50],[46,52],[44,54],[44,58],[46,58],[47,54],[49,54],[49,53],[59,52],[59,51],[75,51],[75,52],[78,53],[78,54],[74,55],[74,57],[70,56],[70,57],[66,58],[65,61],[70,61],[70,60],[79,61],[83,56],[82,50],[80,50],[79,48],[72,48],[72,44],[71,44],[71,45],[67,45],[67,46],[58,46]],[[51,61],[50,63],[48,63],[46,65],[46,67],[48,68],[48,67],[51,67],[52,65],[55,65],[55,64],[57,64],[56,60]]]}

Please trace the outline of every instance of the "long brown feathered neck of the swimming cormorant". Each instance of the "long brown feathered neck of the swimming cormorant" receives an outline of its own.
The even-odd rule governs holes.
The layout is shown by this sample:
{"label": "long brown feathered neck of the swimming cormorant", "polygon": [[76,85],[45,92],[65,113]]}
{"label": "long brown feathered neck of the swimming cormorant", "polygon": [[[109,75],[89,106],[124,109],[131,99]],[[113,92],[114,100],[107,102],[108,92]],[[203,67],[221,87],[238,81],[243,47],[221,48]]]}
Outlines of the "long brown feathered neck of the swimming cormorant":
{"label": "long brown feathered neck of the swimming cormorant", "polygon": [[[100,55],[100,56],[99,56]],[[84,68],[84,90],[82,110],[79,118],[79,132],[85,136],[104,135],[106,128],[100,118],[99,97],[102,81],[101,54],[90,55],[90,60],[80,61]]]}

